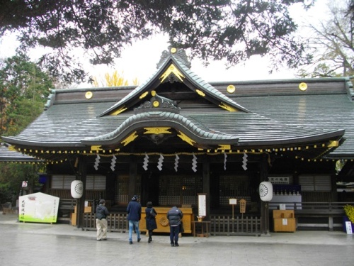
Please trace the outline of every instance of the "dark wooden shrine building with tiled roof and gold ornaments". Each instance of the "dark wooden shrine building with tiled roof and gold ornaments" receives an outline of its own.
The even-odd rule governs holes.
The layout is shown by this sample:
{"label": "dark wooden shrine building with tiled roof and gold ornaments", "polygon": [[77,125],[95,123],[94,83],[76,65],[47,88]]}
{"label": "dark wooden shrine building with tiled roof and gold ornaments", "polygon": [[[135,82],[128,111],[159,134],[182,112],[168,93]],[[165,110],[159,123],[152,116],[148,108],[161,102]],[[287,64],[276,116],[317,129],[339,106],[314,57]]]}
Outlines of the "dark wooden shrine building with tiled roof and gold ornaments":
{"label": "dark wooden shrine building with tiled roof and gold ornaments", "polygon": [[[99,199],[124,212],[137,194],[142,206],[188,208],[192,219],[205,194],[205,221],[231,215],[230,199],[244,199],[245,215],[258,217],[268,233],[279,203],[340,202],[338,184],[354,182],[348,77],[208,83],[176,48],[147,71],[138,87],[51,89],[33,123],[3,136],[47,165],[42,192],[72,199],[78,179],[79,213]],[[273,207],[260,199],[264,181],[273,184]],[[237,204],[234,211],[241,215]],[[84,226],[84,216],[77,219]]]}

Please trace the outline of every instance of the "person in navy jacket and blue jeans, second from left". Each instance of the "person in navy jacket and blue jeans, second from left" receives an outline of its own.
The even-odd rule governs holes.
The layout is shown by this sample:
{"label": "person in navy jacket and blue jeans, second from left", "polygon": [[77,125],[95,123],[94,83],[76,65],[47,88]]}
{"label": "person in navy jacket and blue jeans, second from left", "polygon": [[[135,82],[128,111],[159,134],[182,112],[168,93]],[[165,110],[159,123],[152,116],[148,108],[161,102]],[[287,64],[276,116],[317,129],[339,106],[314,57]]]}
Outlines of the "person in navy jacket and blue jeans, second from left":
{"label": "person in navy jacket and blue jeans, second from left", "polygon": [[129,221],[129,243],[132,244],[132,231],[137,231],[137,242],[140,242],[139,221],[142,218],[142,205],[137,201],[138,196],[134,195],[127,206],[127,219]]}

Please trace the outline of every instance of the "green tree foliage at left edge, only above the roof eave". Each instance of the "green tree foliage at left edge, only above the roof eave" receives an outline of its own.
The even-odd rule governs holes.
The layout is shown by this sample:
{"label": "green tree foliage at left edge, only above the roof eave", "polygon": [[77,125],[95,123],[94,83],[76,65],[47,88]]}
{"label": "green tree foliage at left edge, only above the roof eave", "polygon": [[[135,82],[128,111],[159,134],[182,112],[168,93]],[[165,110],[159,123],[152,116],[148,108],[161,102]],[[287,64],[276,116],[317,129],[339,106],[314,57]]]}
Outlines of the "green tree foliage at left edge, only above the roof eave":
{"label": "green tree foliage at left edge, only above the roof eave", "polygon": [[16,135],[42,113],[50,76],[27,55],[7,58],[0,68],[0,134]]}

